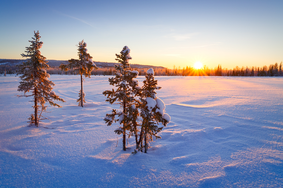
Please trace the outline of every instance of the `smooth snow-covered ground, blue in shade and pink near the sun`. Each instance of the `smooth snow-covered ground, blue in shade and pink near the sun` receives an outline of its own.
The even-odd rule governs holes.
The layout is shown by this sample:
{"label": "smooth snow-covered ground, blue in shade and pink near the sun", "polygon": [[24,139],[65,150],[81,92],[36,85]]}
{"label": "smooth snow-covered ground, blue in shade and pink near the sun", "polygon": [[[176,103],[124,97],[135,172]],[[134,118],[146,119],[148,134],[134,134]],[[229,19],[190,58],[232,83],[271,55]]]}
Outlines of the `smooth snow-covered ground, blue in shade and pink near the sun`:
{"label": "smooth snow-covered ground, blue in shade and pink near the sun", "polygon": [[[0,187],[283,187],[282,77],[156,76],[171,122],[147,154],[103,118],[108,76],[51,75],[65,103],[28,127],[31,98],[0,77]],[[139,83],[144,80],[138,77]],[[43,128],[48,127],[48,128]],[[54,129],[51,129],[54,128]]]}

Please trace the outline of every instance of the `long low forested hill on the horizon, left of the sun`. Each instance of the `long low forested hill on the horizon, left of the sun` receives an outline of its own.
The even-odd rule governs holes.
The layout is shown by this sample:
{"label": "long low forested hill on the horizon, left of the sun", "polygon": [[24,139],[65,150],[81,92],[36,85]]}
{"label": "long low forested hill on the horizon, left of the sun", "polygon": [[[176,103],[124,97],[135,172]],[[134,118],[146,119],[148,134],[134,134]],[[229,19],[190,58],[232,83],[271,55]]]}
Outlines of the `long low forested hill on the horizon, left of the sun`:
{"label": "long low forested hill on the horizon, left of the sun", "polygon": [[[15,60],[15,59],[0,59],[0,65],[5,65],[5,66],[15,66],[19,63],[24,62],[25,60]],[[57,67],[59,65],[63,64],[68,64],[68,60],[47,60],[48,65],[50,67]],[[115,64],[119,63],[108,63],[108,62],[94,62],[98,67],[114,67]],[[153,66],[153,65],[138,65],[138,64],[130,64],[131,68],[153,68],[153,69],[163,69],[164,67],[162,66]]]}

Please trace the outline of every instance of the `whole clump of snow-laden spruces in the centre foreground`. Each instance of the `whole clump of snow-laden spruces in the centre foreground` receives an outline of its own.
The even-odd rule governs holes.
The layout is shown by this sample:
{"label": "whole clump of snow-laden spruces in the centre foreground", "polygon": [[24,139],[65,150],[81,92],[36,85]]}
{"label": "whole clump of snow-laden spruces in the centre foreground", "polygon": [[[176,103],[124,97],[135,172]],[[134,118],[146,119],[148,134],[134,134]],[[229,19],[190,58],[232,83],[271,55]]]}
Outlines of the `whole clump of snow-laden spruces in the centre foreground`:
{"label": "whole clump of snow-laden spruces in the centre foreground", "polygon": [[[144,86],[138,86],[139,82],[135,80],[138,76],[138,71],[130,71],[129,60],[130,49],[125,46],[116,54],[119,63],[115,65],[117,73],[115,77],[109,78],[110,85],[116,86],[114,91],[107,90],[103,94],[107,96],[107,102],[120,104],[121,109],[113,109],[112,113],[106,114],[104,118],[108,126],[113,122],[118,122],[119,126],[115,129],[115,133],[123,134],[123,150],[126,150],[126,134],[135,136],[136,149],[147,152],[149,142],[152,141],[152,135],[160,138],[157,135],[163,127],[158,127],[158,122],[166,126],[170,122],[170,116],[165,113],[164,102],[156,97],[155,89],[161,89],[157,86],[157,80],[154,80],[153,69],[147,70],[146,80],[143,81]],[[117,116],[117,118],[116,118]],[[144,140],[144,144],[143,144]]]}

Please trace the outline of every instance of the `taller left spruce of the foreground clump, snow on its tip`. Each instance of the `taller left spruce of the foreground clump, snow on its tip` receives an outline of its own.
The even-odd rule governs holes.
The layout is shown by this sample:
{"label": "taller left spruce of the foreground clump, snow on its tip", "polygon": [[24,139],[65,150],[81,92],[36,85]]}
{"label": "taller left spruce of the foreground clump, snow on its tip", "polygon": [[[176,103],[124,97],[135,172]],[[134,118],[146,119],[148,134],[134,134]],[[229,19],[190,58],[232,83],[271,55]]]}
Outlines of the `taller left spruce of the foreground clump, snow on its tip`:
{"label": "taller left spruce of the foreground clump, snow on its tip", "polygon": [[[103,91],[103,94],[107,96],[107,102],[113,104],[120,104],[120,112],[118,110],[112,110],[111,114],[106,114],[104,118],[105,123],[108,126],[112,125],[113,122],[117,122],[123,126],[119,126],[118,129],[115,130],[115,133],[123,134],[123,150],[126,150],[126,131],[135,132],[136,119],[138,117],[138,110],[136,109],[136,98],[135,95],[141,87],[138,86],[138,81],[134,80],[138,76],[138,71],[129,70],[130,64],[129,60],[131,60],[130,49],[128,46],[124,46],[123,50],[119,55],[116,54],[117,60],[121,65],[115,65],[115,69],[117,72],[115,73],[115,77],[109,78],[109,84],[112,86],[116,86],[117,90],[112,91],[107,90]],[[118,119],[115,119],[116,116]],[[130,136],[130,134],[129,134]]]}

